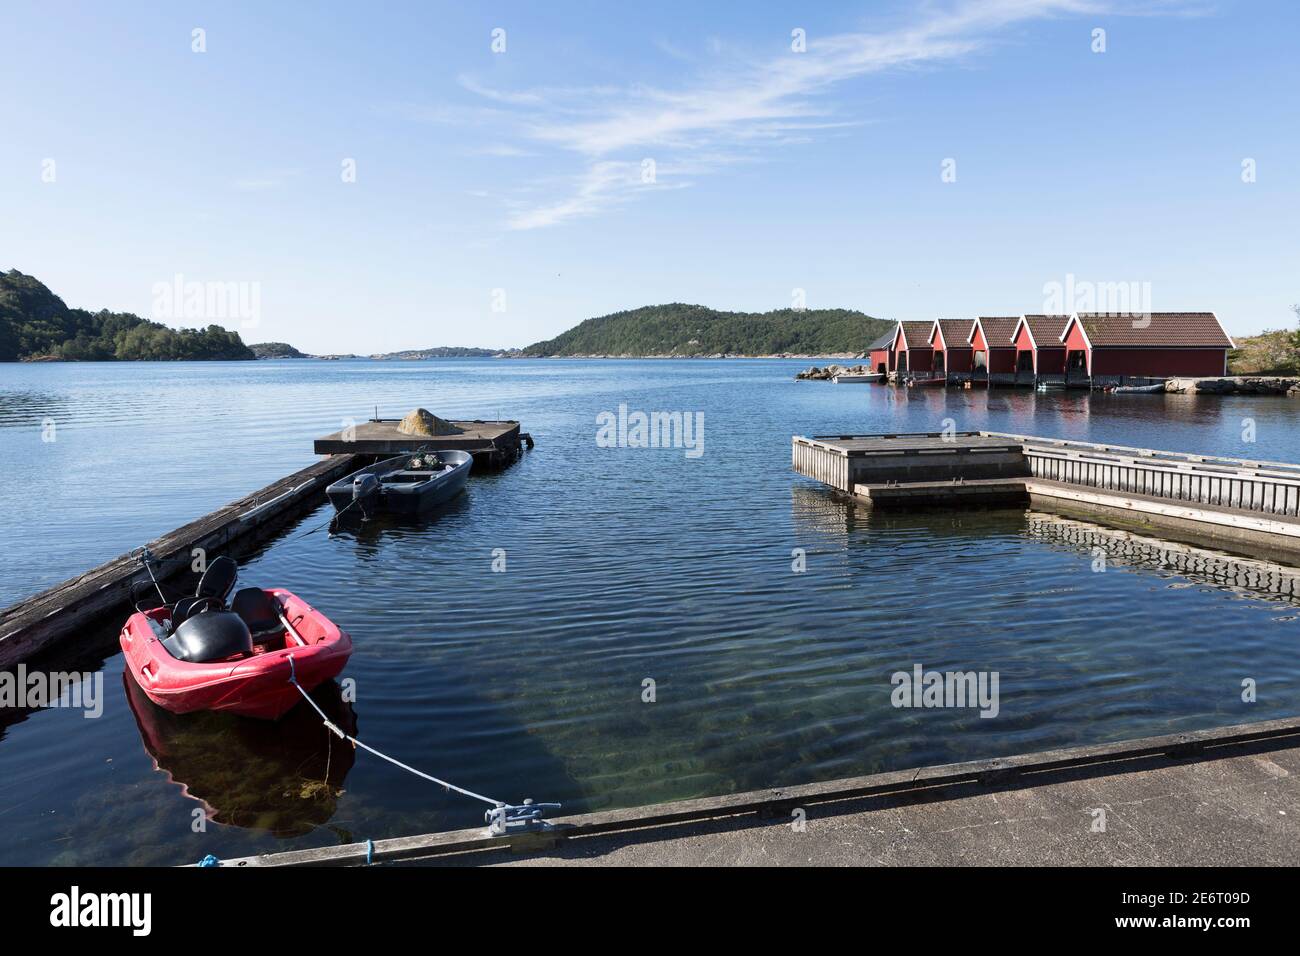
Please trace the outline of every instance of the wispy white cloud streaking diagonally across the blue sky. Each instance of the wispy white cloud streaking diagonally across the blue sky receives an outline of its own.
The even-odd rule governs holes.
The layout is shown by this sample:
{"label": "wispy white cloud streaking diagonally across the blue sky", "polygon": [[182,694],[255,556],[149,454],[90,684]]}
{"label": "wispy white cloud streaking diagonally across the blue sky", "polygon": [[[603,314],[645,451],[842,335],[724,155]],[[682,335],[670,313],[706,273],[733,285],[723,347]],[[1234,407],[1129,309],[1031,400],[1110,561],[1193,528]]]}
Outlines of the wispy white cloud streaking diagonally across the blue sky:
{"label": "wispy white cloud streaking diagonally across the blue sky", "polygon": [[[569,153],[582,164],[556,196],[511,204],[511,229],[540,229],[592,216],[645,193],[682,185],[673,169],[703,176],[722,164],[754,159],[764,148],[807,142],[826,130],[862,122],[837,114],[828,94],[837,85],[885,70],[933,66],[997,42],[1000,31],[1031,20],[1101,13],[1095,0],[963,0],[927,5],[913,21],[883,33],[810,35],[807,49],[722,60],[675,90],[651,86],[586,90],[494,90],[471,77],[460,85],[494,118],[534,148]],[[1147,12],[1174,12],[1176,0],[1154,0]],[[1131,12],[1131,10],[1130,10]],[[673,51],[677,52],[677,51]],[[490,104],[490,105],[488,105]],[[654,157],[656,182],[641,163]],[[555,182],[549,183],[551,189]]]}

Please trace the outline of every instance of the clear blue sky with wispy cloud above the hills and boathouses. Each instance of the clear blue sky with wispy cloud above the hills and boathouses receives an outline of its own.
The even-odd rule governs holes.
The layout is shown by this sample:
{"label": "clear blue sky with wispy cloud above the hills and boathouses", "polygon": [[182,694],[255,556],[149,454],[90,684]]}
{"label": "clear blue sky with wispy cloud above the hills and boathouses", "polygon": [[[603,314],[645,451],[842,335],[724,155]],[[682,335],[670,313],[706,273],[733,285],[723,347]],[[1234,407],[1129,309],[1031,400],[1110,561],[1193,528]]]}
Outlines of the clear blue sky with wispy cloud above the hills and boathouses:
{"label": "clear blue sky with wispy cloud above the hills and boathouses", "polygon": [[0,268],[72,306],[256,284],[246,341],[370,352],[796,289],[931,319],[1139,282],[1239,334],[1300,300],[1295,3],[9,0],[4,20]]}

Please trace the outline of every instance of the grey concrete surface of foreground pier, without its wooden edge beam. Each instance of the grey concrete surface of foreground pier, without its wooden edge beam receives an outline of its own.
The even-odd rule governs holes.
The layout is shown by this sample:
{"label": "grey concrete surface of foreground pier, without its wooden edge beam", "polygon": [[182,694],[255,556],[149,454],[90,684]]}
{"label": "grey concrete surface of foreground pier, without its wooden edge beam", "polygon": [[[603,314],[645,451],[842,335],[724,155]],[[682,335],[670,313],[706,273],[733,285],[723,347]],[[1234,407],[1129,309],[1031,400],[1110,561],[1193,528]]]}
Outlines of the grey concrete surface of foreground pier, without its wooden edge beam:
{"label": "grey concrete surface of foreground pier, without its wooden edge beam", "polygon": [[[789,819],[708,821],[594,836],[497,866],[1295,866],[1300,750],[1123,774],[1061,774],[1035,787],[879,799]],[[1105,813],[1100,817],[1098,813]],[[1105,830],[1093,830],[1104,819]],[[486,856],[486,855],[485,855]],[[455,865],[448,858],[446,865]]]}

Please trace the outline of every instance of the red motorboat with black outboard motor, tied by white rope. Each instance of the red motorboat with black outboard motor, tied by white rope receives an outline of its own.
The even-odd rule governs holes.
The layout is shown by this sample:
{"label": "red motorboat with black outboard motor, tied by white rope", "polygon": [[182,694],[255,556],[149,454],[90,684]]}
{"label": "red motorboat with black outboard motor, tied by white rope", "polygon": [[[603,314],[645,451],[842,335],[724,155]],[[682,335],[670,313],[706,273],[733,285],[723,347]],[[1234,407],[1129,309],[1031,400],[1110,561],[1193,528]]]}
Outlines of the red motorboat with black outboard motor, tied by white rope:
{"label": "red motorboat with black outboard motor, tied by white rope", "polygon": [[126,666],[164,710],[276,721],[302,700],[291,676],[311,692],[347,663],[352,639],[329,618],[283,588],[235,591],[237,578],[235,562],[217,558],[194,597],[136,605],[122,627]]}

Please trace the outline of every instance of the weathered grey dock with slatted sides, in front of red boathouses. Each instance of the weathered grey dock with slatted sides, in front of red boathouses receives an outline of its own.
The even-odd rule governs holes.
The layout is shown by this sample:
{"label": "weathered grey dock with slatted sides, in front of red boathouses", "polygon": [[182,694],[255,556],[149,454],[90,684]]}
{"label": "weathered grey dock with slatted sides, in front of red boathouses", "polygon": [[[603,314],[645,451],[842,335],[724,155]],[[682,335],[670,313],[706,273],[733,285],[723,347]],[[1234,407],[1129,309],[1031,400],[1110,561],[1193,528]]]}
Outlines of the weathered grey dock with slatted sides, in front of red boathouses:
{"label": "weathered grey dock with slatted sides, in front of red boathouses", "polygon": [[1300,464],[1002,432],[796,436],[793,464],[880,507],[1067,507],[1300,554]]}

